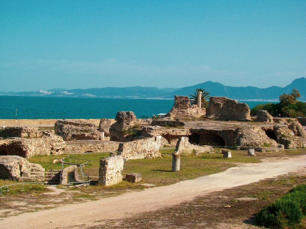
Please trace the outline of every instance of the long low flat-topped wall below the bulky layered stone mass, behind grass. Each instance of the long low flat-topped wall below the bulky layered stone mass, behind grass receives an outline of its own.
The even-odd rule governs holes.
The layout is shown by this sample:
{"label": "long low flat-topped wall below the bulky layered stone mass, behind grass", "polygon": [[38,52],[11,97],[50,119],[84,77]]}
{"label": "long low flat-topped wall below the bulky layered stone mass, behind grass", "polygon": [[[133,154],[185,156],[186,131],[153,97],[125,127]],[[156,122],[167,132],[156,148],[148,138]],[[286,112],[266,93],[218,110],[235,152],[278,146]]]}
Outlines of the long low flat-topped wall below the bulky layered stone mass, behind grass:
{"label": "long low flat-topped wall below the bulky layered stone mass, behind grass", "polygon": [[101,142],[101,144],[84,144],[84,145],[67,144],[65,145],[62,154],[117,151],[119,144],[120,142],[107,142],[107,143]]}

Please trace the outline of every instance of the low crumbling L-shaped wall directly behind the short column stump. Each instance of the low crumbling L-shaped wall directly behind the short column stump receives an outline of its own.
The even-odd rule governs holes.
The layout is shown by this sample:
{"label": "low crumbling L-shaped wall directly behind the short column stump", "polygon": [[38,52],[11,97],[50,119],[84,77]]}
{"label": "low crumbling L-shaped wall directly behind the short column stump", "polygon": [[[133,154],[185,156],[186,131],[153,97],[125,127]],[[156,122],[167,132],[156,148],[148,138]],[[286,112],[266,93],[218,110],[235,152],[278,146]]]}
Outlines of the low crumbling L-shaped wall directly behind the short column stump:
{"label": "low crumbling L-shaped wall directly behind the short column stump", "polygon": [[175,151],[177,152],[177,155],[182,155],[182,154],[190,155],[192,153],[199,155],[202,153],[213,152],[214,148],[211,146],[193,145],[189,143],[188,137],[180,137],[179,140],[177,141]]}

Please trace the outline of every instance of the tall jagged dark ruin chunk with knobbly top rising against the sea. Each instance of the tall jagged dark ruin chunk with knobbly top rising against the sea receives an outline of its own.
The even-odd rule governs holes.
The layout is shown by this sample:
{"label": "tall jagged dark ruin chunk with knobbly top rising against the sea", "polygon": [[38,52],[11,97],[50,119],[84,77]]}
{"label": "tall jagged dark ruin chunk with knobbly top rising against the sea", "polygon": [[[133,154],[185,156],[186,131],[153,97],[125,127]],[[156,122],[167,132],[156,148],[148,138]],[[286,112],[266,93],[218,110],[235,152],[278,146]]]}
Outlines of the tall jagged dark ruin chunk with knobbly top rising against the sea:
{"label": "tall jagged dark ruin chunk with knobbly top rising against the sea", "polygon": [[132,134],[131,128],[138,122],[132,111],[118,111],[113,125],[110,126],[111,141],[130,141],[127,136]]}

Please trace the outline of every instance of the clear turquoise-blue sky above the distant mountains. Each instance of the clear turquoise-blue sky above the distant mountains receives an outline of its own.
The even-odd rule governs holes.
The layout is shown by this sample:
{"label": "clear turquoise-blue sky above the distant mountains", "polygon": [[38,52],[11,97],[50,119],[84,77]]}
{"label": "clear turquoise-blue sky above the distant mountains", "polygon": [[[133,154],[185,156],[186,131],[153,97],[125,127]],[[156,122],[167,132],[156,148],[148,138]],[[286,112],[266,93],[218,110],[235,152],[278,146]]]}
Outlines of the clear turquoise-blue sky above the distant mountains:
{"label": "clear turquoise-blue sky above the distant mountains", "polygon": [[306,1],[3,1],[0,91],[306,77]]}

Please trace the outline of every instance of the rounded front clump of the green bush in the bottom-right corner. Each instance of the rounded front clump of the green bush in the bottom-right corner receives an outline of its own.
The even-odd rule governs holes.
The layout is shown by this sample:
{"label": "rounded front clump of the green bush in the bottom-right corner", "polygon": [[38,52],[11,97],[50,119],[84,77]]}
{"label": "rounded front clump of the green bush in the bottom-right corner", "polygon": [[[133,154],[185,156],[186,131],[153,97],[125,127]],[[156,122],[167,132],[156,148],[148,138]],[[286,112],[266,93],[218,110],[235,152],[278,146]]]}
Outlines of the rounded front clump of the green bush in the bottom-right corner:
{"label": "rounded front clump of the green bush in the bottom-right corner", "polygon": [[300,223],[303,213],[300,205],[289,199],[277,199],[257,214],[260,224],[271,228],[293,227]]}

